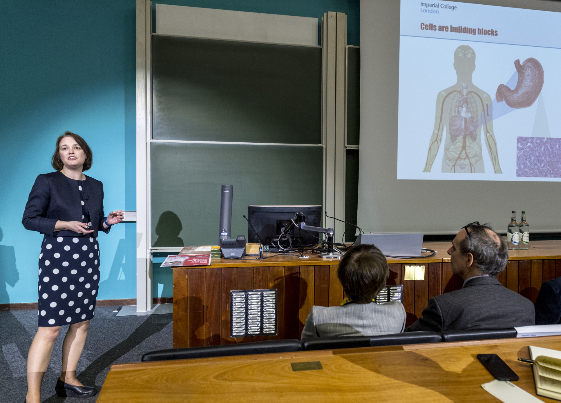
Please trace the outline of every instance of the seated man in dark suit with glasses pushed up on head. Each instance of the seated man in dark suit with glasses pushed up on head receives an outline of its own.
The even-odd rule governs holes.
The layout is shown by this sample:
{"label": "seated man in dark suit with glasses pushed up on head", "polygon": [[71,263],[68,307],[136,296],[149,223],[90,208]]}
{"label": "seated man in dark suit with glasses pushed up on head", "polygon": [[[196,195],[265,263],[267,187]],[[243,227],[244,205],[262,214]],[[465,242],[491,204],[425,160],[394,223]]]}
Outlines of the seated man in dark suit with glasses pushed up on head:
{"label": "seated man in dark suit with glasses pushed up on head", "polygon": [[464,280],[460,290],[429,300],[422,318],[406,328],[417,330],[504,329],[534,325],[534,305],[495,278],[507,266],[504,239],[487,225],[468,224],[448,249],[452,272]]}

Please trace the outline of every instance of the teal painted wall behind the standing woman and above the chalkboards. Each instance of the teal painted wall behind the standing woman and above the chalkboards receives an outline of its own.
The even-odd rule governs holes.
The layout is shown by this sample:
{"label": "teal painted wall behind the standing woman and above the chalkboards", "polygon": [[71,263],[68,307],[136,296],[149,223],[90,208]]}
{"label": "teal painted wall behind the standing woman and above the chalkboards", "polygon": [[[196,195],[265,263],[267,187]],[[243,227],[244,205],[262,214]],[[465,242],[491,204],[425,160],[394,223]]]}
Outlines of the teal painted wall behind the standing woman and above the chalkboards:
{"label": "teal painted wall behind the standing woman and above the chalkboards", "polygon": [[[360,45],[358,0],[176,0],[168,4],[304,17],[348,15]],[[136,210],[135,0],[10,0],[0,27],[0,304],[37,300],[42,235],[21,225],[35,177],[52,172],[66,130],[89,143],[86,172],[103,182],[105,211]],[[100,234],[99,299],[136,297],[136,225]],[[169,269],[153,266],[154,297],[172,296]]]}

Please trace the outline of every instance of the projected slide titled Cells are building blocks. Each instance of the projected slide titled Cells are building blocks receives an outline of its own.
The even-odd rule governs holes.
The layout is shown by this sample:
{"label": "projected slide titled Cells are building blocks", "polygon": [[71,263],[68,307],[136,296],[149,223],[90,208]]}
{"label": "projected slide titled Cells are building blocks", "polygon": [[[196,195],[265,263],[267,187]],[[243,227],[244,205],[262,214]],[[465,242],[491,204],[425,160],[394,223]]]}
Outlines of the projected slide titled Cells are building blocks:
{"label": "projected slide titled Cells are building blocks", "polygon": [[561,181],[561,13],[401,0],[397,179]]}

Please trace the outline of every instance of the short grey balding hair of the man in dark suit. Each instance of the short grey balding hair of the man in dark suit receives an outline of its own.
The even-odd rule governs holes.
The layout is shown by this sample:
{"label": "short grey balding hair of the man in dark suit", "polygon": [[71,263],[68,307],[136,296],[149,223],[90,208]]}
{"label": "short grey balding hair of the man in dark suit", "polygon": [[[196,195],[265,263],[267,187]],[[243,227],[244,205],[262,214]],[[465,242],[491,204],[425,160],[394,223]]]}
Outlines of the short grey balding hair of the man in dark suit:
{"label": "short grey balding hair of the man in dark suit", "polygon": [[481,274],[495,277],[507,266],[507,243],[487,224],[472,225],[468,229],[468,236],[459,243],[459,252],[471,253]]}

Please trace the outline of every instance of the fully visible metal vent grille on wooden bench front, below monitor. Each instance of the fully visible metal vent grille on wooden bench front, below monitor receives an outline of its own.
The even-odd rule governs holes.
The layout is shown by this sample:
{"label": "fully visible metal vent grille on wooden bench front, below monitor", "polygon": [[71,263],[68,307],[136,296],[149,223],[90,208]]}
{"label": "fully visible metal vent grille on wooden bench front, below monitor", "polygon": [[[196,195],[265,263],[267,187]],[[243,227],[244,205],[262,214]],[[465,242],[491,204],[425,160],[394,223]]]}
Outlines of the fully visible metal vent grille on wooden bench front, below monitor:
{"label": "fully visible metal vent grille on wooden bench front, below monitor", "polygon": [[230,291],[230,337],[277,335],[277,289]]}

